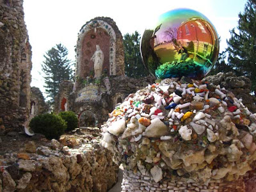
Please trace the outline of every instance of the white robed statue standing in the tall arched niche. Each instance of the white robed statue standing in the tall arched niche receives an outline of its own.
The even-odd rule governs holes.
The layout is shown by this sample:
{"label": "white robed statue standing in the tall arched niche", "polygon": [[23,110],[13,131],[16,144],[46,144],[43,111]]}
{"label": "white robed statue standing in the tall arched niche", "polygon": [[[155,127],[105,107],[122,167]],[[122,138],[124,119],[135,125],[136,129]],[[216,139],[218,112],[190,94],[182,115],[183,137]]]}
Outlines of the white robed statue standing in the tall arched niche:
{"label": "white robed statue standing in the tall arched niche", "polygon": [[104,54],[100,49],[100,45],[96,45],[96,51],[94,52],[91,60],[94,61],[94,78],[99,79],[104,61]]}

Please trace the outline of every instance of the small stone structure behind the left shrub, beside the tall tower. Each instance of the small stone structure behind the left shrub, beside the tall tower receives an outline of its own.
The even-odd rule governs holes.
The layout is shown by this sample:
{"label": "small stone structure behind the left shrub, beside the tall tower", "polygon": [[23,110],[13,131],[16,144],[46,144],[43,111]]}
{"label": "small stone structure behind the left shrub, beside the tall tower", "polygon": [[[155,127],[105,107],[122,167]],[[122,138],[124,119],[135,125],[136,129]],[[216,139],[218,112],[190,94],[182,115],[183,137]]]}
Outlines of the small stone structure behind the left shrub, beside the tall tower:
{"label": "small stone structure behind the left shrub, beside the tall tower", "polygon": [[44,95],[39,88],[31,87],[31,99],[30,99],[30,115],[41,115],[47,113],[49,107],[45,104]]}

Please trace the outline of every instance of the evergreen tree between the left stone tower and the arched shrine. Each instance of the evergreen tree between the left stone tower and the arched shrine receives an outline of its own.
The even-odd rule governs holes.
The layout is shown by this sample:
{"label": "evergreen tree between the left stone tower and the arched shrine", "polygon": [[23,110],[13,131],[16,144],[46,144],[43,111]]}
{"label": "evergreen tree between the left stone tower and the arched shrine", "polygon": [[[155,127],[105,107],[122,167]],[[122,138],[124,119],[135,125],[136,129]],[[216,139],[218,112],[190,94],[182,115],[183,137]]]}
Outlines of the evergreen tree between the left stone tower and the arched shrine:
{"label": "evergreen tree between the left stone tower and the arched shrine", "polygon": [[44,87],[52,104],[58,94],[60,82],[70,80],[73,76],[71,67],[74,64],[67,59],[67,55],[67,48],[61,44],[57,44],[44,54],[45,61],[42,64],[46,84]]}

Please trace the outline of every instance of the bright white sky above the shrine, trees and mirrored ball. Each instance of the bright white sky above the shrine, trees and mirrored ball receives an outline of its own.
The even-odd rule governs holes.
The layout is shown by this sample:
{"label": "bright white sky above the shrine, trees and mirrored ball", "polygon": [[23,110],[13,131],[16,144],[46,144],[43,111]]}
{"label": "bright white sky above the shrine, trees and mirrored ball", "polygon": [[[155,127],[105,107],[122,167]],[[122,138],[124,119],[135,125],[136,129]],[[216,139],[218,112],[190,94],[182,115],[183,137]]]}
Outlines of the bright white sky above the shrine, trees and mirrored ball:
{"label": "bright white sky above the shrine, trees and mirrored ball", "polygon": [[122,35],[143,31],[159,15],[175,8],[191,8],[203,13],[221,37],[220,51],[227,47],[229,30],[237,26],[238,14],[246,0],[24,0],[25,22],[32,46],[31,86],[44,93],[41,65],[44,54],[56,44],[68,49],[68,59],[75,61],[79,29],[95,17],[111,17]]}

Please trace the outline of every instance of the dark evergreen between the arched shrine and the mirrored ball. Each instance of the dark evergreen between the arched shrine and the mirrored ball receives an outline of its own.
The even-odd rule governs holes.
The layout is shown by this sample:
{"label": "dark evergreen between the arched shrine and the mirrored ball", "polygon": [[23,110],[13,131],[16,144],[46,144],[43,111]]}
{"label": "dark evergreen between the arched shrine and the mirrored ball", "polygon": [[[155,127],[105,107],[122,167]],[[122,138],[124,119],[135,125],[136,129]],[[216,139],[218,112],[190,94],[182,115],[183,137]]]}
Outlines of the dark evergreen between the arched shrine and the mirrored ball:
{"label": "dark evergreen between the arched shrine and the mirrored ball", "polygon": [[139,78],[149,75],[141,59],[140,38],[138,31],[132,35],[124,35],[125,75],[128,77]]}

